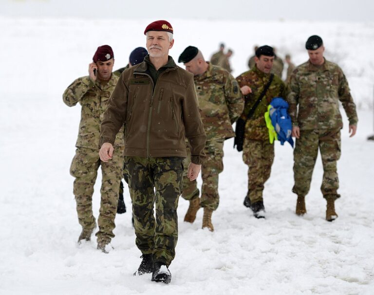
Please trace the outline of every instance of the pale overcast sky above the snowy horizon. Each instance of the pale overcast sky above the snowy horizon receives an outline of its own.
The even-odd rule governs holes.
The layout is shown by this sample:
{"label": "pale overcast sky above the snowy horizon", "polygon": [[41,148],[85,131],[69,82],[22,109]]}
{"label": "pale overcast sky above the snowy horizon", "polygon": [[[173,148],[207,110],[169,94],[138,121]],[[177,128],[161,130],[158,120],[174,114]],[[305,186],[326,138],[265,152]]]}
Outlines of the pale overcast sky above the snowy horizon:
{"label": "pale overcast sky above the snowy horizon", "polygon": [[0,16],[373,21],[371,0],[0,0]]}

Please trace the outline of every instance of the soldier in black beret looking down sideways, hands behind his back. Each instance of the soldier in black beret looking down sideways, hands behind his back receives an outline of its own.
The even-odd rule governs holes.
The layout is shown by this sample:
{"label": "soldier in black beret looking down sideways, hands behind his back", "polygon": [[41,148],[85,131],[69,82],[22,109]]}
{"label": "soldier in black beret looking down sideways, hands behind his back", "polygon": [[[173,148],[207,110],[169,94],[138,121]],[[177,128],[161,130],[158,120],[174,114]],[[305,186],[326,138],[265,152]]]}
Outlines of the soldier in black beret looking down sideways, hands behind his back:
{"label": "soldier in black beret looking down sideways, hands behind his back", "polygon": [[[224,140],[235,135],[233,124],[243,111],[244,101],[239,91],[238,82],[222,68],[206,62],[201,51],[194,46],[188,46],[179,56],[186,70],[194,74],[194,81],[199,98],[200,114],[206,130],[206,161],[202,166],[202,193],[199,198],[199,189],[196,180],[190,182],[183,180],[182,197],[189,200],[189,207],[185,221],[193,222],[200,206],[204,208],[203,228],[213,231],[211,215],[219,203],[218,175],[223,171],[222,158],[224,156]],[[187,155],[190,155],[189,150]],[[185,159],[185,166],[189,163]]]}

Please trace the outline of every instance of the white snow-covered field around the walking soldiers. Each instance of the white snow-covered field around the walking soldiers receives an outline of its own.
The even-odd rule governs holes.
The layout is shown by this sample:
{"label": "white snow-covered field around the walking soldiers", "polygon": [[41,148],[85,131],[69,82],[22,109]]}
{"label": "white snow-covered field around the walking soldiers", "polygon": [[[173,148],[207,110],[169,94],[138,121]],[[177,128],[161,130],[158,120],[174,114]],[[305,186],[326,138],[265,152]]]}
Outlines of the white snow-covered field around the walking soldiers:
{"label": "white snow-covered field around the walking soldiers", "polygon": [[[203,210],[192,225],[183,222],[188,202],[180,200],[169,285],[132,276],[141,254],[129,212],[116,218],[110,254],[96,250],[94,237],[76,244],[80,226],[69,166],[80,108],[64,105],[62,92],[87,74],[99,45],[112,46],[115,69],[125,66],[131,50],[145,45],[143,30],[152,20],[0,18],[0,294],[373,295],[374,142],[366,137],[373,134],[374,23],[170,19],[175,60],[188,45],[208,59],[224,41],[234,50],[235,76],[246,71],[255,44],[274,45],[281,57],[291,53],[299,64],[307,60],[306,38],[324,39],[326,57],[339,63],[350,82],[359,117],[358,133],[349,138],[344,116],[336,221],[324,220],[320,157],[308,214],[294,214],[292,148],[278,143],[264,190],[267,218],[255,219],[242,204],[246,166],[228,140],[215,231],[201,229]],[[100,181],[93,196],[96,217]]]}

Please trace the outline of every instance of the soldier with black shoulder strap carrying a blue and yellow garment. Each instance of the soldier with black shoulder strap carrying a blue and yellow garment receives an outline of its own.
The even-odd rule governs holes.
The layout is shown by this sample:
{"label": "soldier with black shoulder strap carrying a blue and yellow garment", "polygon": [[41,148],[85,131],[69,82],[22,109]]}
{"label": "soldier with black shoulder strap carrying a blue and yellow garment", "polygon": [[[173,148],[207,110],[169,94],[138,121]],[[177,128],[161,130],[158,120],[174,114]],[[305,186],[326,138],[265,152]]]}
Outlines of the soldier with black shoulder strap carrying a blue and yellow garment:
{"label": "soldier with black shoulder strap carrying a blue and yellow garment", "polygon": [[[246,120],[249,111],[255,105],[262,90],[270,79],[274,61],[273,48],[261,46],[256,51],[256,65],[236,79],[244,95],[245,106],[242,118]],[[281,78],[273,76],[273,80],[251,118],[245,123],[243,161],[248,165],[248,191],[244,205],[250,207],[256,218],[264,218],[262,191],[270,177],[274,160],[274,146],[269,142],[264,113],[271,100],[276,96],[285,97],[286,89]]]}

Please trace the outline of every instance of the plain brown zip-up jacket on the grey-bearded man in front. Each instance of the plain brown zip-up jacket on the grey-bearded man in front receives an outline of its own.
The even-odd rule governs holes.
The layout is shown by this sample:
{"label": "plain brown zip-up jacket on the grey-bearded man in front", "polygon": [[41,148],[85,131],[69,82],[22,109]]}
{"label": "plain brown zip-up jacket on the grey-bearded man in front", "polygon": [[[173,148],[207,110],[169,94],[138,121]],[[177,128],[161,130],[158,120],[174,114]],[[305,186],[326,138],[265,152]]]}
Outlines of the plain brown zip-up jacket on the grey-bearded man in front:
{"label": "plain brown zip-up jacket on the grey-bearded man in front", "polygon": [[154,70],[156,83],[146,61],[121,74],[101,124],[100,145],[113,143],[125,124],[125,156],[187,157],[186,137],[192,163],[202,164],[206,134],[193,75],[170,56],[166,66]]}

